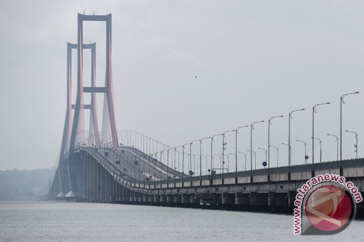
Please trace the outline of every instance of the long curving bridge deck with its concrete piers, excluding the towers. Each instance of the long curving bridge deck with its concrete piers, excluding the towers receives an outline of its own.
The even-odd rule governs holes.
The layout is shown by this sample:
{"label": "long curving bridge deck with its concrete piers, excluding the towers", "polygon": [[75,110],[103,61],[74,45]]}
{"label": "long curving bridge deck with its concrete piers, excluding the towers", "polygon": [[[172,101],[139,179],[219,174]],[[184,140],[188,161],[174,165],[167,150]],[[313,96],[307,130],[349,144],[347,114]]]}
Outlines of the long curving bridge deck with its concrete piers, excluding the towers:
{"label": "long curving bridge deck with its concrete piers, excluding the towers", "polygon": [[[102,153],[105,151],[110,152],[108,157]],[[123,168],[130,169],[134,162],[127,156],[145,155],[133,147],[119,147],[116,150],[79,147],[78,152],[83,152],[86,157],[82,201],[89,202],[159,202],[166,205],[189,203],[196,206],[262,205],[293,208],[297,189],[311,177],[325,173],[342,174],[348,181],[352,181],[362,194],[364,192],[364,159],[343,160],[341,169],[340,161],[330,161],[270,168],[269,172],[268,169],[258,169],[194,177],[178,173],[178,176],[171,179],[166,177],[172,169],[169,168],[167,172],[166,167],[162,167],[164,180],[146,181],[138,179],[139,172],[132,171],[130,175],[127,170],[124,176]],[[116,157],[121,158],[120,165],[115,164]],[[125,165],[122,164],[122,160]],[[153,174],[154,170],[157,171],[161,167],[159,161],[149,163],[148,159],[141,164],[141,167],[146,165],[147,175]],[[159,170],[157,172],[160,173]],[[362,204],[364,203],[359,204],[358,209],[363,209]]]}

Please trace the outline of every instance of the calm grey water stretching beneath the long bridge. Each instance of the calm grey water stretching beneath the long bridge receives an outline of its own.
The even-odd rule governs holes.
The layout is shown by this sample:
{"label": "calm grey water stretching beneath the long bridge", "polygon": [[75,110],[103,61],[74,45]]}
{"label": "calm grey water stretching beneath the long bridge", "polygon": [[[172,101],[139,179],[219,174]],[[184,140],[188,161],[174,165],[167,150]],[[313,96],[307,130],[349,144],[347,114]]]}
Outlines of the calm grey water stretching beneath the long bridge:
{"label": "calm grey water stretching beneath the long bridge", "polygon": [[0,241],[363,241],[364,221],[293,235],[293,216],[120,204],[0,202]]}

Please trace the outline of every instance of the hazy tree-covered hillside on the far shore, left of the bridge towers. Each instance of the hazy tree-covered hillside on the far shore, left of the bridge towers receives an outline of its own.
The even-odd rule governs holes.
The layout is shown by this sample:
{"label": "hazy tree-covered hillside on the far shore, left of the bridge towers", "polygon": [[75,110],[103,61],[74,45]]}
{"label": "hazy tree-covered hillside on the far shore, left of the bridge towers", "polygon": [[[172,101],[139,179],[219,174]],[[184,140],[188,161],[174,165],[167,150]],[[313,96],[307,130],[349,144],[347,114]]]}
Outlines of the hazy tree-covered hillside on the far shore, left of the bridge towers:
{"label": "hazy tree-covered hillside on the far shore, left of the bridge towers", "polygon": [[0,171],[0,201],[39,200],[48,193],[52,169]]}

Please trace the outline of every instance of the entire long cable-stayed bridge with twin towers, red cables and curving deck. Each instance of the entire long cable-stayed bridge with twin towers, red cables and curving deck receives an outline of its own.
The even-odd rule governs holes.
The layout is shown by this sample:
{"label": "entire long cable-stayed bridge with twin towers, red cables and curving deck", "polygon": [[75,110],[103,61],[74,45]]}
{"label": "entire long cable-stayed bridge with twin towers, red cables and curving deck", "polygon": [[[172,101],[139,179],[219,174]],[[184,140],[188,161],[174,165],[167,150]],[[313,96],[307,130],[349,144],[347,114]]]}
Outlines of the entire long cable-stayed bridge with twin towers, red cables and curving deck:
{"label": "entire long cable-stayed bridge with twin towers, red cables and curving deck", "polygon": [[[96,87],[96,43],[83,44],[84,21],[106,22],[104,87]],[[48,193],[49,200],[290,209],[293,208],[297,189],[311,177],[325,173],[345,176],[363,194],[362,158],[338,158],[336,161],[315,163],[312,153],[312,163],[306,157],[300,165],[292,165],[289,159],[287,166],[277,164],[274,167],[270,164],[268,152],[268,160],[263,167],[258,165],[257,169],[255,162],[253,165],[251,142],[250,165],[247,168],[246,153],[245,162],[238,160],[238,153],[244,152],[238,151],[236,137],[240,128],[249,128],[248,126],[237,127],[178,147],[171,147],[137,131],[117,131],[112,84],[111,14],[78,14],[77,41],[77,44],[67,43],[66,118],[58,166]],[[75,104],[72,103],[71,95],[72,49],[77,49],[78,61]],[[83,49],[91,49],[90,86],[84,86],[83,82]],[[84,103],[84,93],[91,93],[90,103]],[[96,93],[104,94],[102,131],[99,131],[98,126]],[[85,109],[90,110],[88,130],[84,128]],[[253,124],[250,125],[250,138]],[[227,132],[235,134],[235,153],[224,153]],[[214,147],[214,137],[216,139],[218,136],[222,138],[222,146]],[[202,152],[202,143],[210,145],[209,152]],[[195,144],[199,144],[199,152],[196,153],[191,148]],[[233,159],[229,161],[229,157]],[[363,205],[359,204],[358,209],[363,209]]]}

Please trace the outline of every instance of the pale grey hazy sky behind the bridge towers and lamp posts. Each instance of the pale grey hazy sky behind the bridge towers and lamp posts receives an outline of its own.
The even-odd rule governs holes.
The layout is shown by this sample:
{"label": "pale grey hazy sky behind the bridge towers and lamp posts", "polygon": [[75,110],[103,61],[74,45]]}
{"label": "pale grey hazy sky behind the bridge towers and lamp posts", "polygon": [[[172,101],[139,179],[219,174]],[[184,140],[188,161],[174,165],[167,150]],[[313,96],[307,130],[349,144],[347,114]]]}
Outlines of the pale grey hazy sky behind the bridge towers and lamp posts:
{"label": "pale grey hazy sky behind the bridge towers and lamp posts", "polygon": [[[306,108],[291,122],[292,163],[299,164],[304,149],[296,139],[308,143],[311,158],[313,104],[331,102],[317,108],[315,136],[323,141],[323,160],[334,160],[335,138],[327,133],[339,135],[340,96],[360,91],[345,100],[343,129],[358,132],[364,154],[363,1],[15,0],[0,8],[1,170],[55,164],[66,111],[66,42],[76,42],[77,13],[84,9],[112,13],[118,130],[177,146],[266,120],[253,134],[261,167],[264,152],[257,147],[267,148],[267,120],[285,115],[272,122],[271,144],[287,164],[281,143],[288,140],[288,113]],[[99,86],[105,32],[104,23],[84,25],[84,41],[96,41]],[[84,56],[87,86],[86,50]],[[250,148],[248,131],[241,130],[238,150]],[[227,152],[234,151],[233,137],[227,135]],[[344,132],[343,142],[343,157],[355,156],[354,136]],[[203,145],[207,154],[209,142]],[[317,161],[318,143],[315,152]],[[274,149],[271,156],[274,164]]]}

